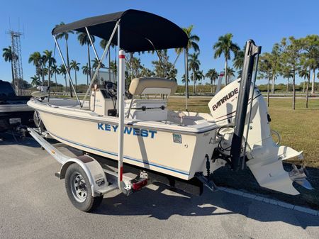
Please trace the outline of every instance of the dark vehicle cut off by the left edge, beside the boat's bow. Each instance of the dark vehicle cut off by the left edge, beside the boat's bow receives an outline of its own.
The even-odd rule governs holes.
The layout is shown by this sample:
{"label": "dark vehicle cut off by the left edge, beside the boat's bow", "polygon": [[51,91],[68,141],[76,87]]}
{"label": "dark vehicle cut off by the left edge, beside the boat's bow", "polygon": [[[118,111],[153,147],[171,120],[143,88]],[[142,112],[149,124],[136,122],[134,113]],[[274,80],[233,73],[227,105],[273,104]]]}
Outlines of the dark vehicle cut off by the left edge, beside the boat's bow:
{"label": "dark vehicle cut off by the left edge, beside the boat's bow", "polygon": [[17,96],[11,84],[0,80],[0,132],[33,125],[30,96]]}

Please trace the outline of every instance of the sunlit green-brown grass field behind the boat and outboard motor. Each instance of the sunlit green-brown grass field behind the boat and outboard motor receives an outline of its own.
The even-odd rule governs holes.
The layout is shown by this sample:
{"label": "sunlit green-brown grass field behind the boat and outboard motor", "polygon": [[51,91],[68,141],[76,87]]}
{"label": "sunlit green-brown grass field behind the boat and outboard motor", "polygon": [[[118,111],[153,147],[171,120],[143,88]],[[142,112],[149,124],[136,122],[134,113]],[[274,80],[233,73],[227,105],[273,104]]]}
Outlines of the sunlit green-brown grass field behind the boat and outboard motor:
{"label": "sunlit green-brown grass field behind the boat and outboard motor", "polygon": [[[189,99],[189,111],[209,113],[207,98]],[[292,109],[292,99],[271,99],[270,126],[281,135],[281,145],[295,150],[303,150],[304,162],[308,167],[319,168],[319,99],[309,99],[306,109],[305,99],[296,99],[296,110]],[[170,98],[169,109],[184,110],[184,98]],[[291,160],[298,162],[298,160]]]}

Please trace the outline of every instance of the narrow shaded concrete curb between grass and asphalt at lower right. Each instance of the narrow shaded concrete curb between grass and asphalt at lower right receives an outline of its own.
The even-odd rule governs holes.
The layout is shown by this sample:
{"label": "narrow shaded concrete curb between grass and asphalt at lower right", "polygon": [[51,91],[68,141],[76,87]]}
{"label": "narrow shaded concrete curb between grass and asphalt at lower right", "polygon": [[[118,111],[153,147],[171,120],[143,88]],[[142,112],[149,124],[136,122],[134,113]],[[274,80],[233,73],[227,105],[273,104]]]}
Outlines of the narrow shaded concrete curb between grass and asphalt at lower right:
{"label": "narrow shaded concrete curb between grass and asphalt at lower right", "polygon": [[229,189],[227,187],[218,187],[218,189],[220,191],[225,191],[229,194],[235,194],[235,195],[238,195],[238,196],[243,196],[243,197],[246,197],[248,199],[253,199],[253,200],[256,200],[256,201],[263,201],[264,203],[267,203],[267,204],[273,204],[273,205],[276,205],[276,206],[280,206],[281,208],[284,208],[284,209],[292,209],[292,210],[296,210],[296,211],[301,211],[303,213],[308,213],[308,214],[311,214],[311,215],[314,215],[314,216],[319,216],[319,211],[317,210],[314,210],[314,209],[308,209],[304,206],[297,206],[297,205],[293,205],[293,204],[287,204],[286,202],[284,201],[279,201],[279,200],[275,200],[275,199],[268,199],[264,196],[259,196],[259,195],[255,195],[255,194],[249,194],[249,193],[245,193],[245,192],[242,192],[242,191],[238,191],[238,190],[235,190],[235,189]]}

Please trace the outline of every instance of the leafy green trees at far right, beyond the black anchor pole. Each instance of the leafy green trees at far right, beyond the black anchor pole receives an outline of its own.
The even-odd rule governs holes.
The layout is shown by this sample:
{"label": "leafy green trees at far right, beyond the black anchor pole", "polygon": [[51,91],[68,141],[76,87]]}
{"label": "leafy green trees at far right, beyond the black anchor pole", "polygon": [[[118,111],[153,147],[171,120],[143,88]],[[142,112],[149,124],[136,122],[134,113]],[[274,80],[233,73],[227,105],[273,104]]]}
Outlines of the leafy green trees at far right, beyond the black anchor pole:
{"label": "leafy green trees at far right, beyond the black anchor pole", "polygon": [[[307,35],[304,38],[282,38],[280,43],[275,43],[272,52],[265,52],[260,57],[259,79],[268,79],[268,92],[274,93],[277,77],[287,80],[293,91],[292,108],[296,105],[296,75],[303,78],[303,92],[306,92],[306,108],[308,108],[310,78],[311,94],[315,93],[315,70],[319,68],[319,36]],[[317,74],[319,78],[319,74]],[[271,87],[271,90],[269,89]],[[269,105],[269,94],[267,97]]]}

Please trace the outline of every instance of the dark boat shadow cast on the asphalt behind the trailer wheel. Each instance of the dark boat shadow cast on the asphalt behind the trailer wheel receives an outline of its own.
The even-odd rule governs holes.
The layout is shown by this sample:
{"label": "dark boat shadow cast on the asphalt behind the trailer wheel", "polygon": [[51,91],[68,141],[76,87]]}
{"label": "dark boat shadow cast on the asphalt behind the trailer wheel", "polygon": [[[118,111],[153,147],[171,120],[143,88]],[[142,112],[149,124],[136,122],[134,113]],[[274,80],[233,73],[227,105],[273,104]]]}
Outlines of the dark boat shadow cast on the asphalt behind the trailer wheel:
{"label": "dark boat shadow cast on the asphalt behind the trailer wheel", "polygon": [[302,228],[319,226],[318,216],[283,209],[223,191],[205,190],[202,196],[186,196],[169,191],[169,188],[163,184],[155,184],[155,186],[158,187],[156,190],[145,188],[131,196],[118,194],[111,198],[106,197],[93,213],[113,216],[149,215],[159,220],[165,220],[173,215],[241,214],[262,222],[283,221]]}

